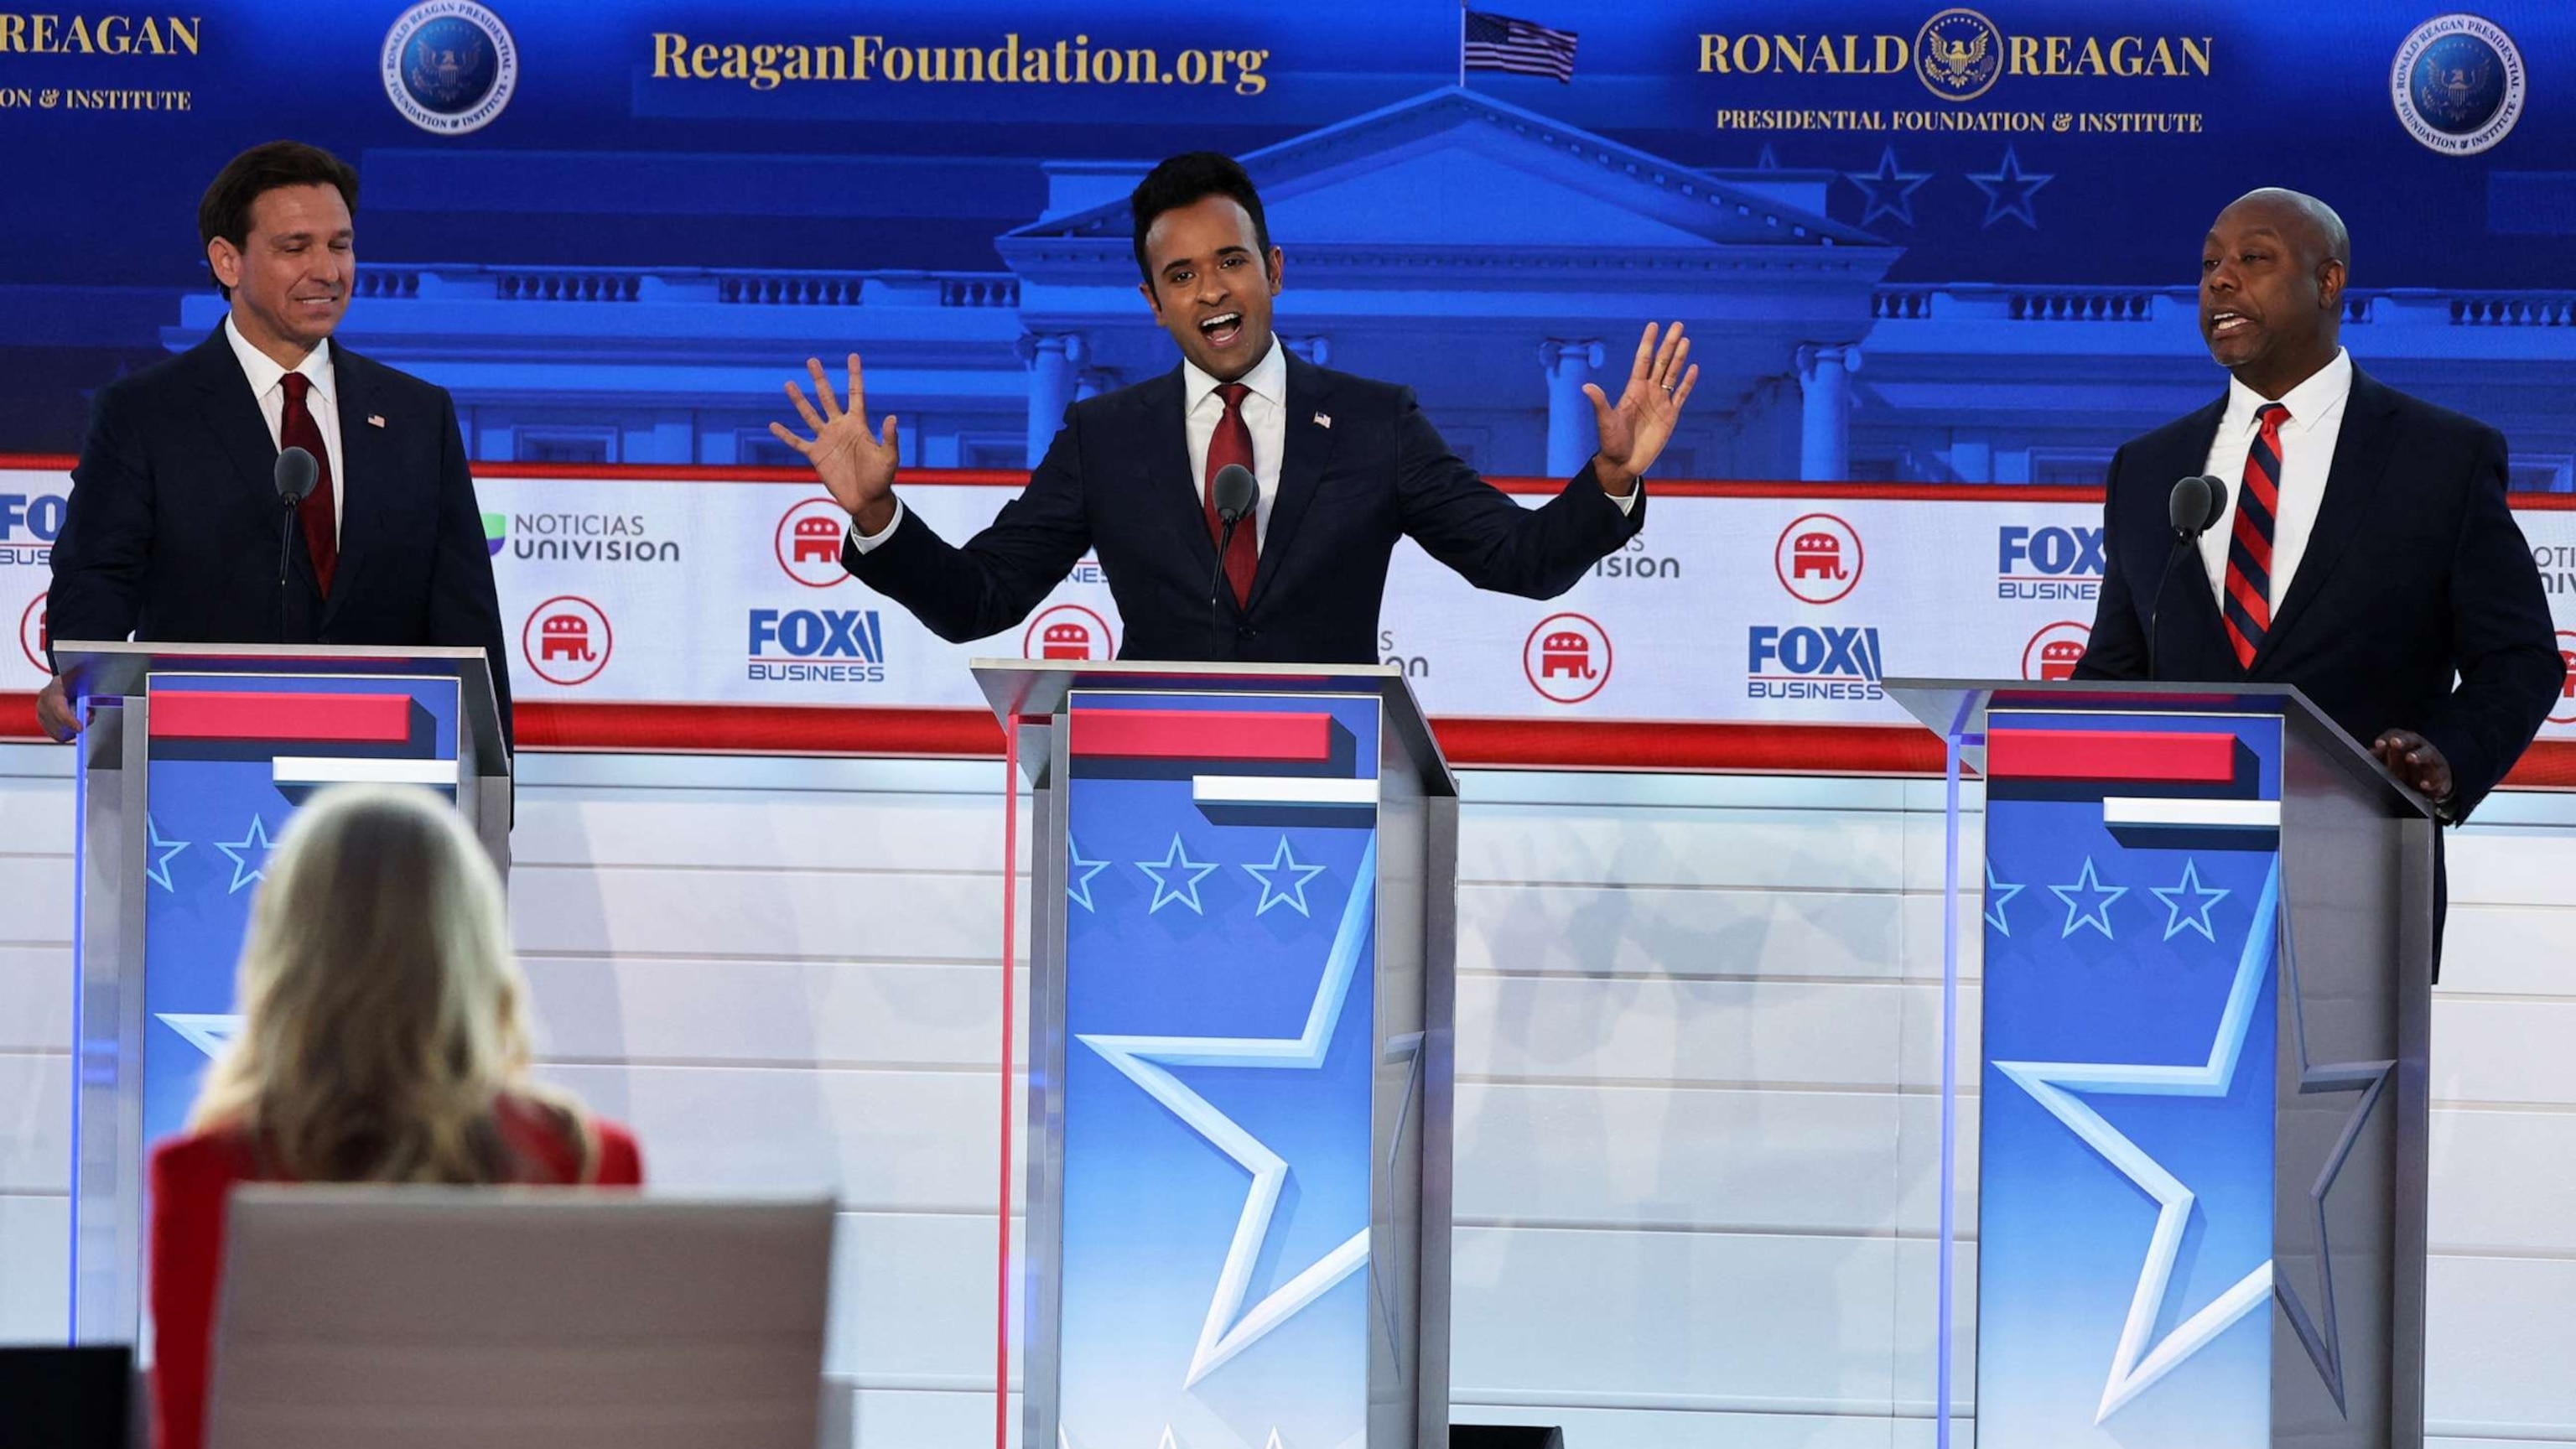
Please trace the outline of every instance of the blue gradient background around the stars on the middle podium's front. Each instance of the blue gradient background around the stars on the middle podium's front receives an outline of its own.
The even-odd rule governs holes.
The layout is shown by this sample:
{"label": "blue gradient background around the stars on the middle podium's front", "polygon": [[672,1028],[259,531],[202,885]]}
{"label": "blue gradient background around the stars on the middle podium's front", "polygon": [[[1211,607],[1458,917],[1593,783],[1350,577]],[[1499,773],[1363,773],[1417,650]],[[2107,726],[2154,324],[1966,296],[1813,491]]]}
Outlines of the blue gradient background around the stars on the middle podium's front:
{"label": "blue gradient background around the stars on the middle podium's front", "polygon": [[[1077,694],[1074,709],[1332,712],[1358,743],[1360,776],[1376,776],[1373,699]],[[1262,773],[1262,766],[1224,761],[1200,768]],[[1293,1039],[1306,1026],[1373,828],[1216,825],[1193,804],[1185,773],[1097,776],[1079,763],[1066,825],[1082,859],[1110,866],[1090,882],[1092,910],[1066,902],[1059,1423],[1074,1449],[1151,1449],[1167,1423],[1190,1444],[1193,1426],[1211,1418],[1255,1446],[1273,1428],[1283,1444],[1340,1444],[1365,1423],[1368,1274],[1350,1274],[1195,1390],[1182,1390],[1252,1178],[1072,1036]],[[1198,884],[1206,915],[1182,902],[1146,910],[1154,877],[1136,861],[1159,864],[1175,833],[1188,859],[1218,861]],[[1288,905],[1255,915],[1262,887],[1242,866],[1267,866],[1280,835],[1298,861],[1327,866],[1306,884],[1309,915]],[[1172,879],[1177,884],[1185,871]],[[1370,933],[1321,1070],[1170,1067],[1288,1160],[1244,1292],[1247,1312],[1368,1225],[1373,962]]]}

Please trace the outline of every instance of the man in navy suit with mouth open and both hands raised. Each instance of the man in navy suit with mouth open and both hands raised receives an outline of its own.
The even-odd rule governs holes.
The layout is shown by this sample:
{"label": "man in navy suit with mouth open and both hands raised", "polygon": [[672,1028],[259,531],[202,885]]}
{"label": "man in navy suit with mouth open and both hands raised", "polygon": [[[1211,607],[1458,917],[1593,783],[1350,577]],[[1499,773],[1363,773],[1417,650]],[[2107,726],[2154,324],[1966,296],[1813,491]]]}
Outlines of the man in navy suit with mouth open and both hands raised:
{"label": "man in navy suit with mouth open and both hands raised", "polygon": [[[966,547],[894,498],[896,425],[889,415],[871,431],[855,353],[848,410],[819,361],[806,361],[819,410],[786,384],[814,436],[770,431],[850,513],[842,565],[943,639],[1018,624],[1097,549],[1126,619],[1123,657],[1376,663],[1399,536],[1479,588],[1553,598],[1643,526],[1638,477],[1698,376],[1680,322],[1662,340],[1646,327],[1618,402],[1584,387],[1600,451],[1548,505],[1520,508],[1448,451],[1412,389],[1309,366],[1270,335],[1283,255],[1244,168],[1177,155],[1128,206],[1139,291],[1182,361],[1074,402],[1028,490]],[[1226,464],[1260,482],[1231,536],[1213,498]]]}

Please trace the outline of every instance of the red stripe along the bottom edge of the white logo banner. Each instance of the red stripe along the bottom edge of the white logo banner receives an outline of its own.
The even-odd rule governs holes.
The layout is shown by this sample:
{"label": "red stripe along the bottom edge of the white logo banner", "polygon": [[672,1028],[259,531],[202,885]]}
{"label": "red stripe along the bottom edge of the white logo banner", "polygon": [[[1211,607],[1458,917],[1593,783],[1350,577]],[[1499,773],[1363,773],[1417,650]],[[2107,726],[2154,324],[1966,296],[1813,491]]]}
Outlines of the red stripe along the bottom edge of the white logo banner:
{"label": "red stripe along the bottom edge of the white logo banner", "polygon": [[[1551,771],[1940,776],[1942,748],[1911,724],[1662,724],[1646,719],[1432,719],[1453,766]],[[36,696],[0,691],[0,740],[44,740]],[[1002,758],[981,709],[827,704],[518,706],[518,748],[636,755]],[[2512,789],[2576,789],[2576,740],[2524,750]]]}

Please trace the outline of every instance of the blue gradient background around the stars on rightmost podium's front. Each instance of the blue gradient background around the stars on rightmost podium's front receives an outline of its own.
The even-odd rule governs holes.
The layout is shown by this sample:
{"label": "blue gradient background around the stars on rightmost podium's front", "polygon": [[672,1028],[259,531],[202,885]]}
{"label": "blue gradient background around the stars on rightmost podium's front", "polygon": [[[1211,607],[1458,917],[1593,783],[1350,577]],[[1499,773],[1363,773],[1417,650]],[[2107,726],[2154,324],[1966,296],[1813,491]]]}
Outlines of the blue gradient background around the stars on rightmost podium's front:
{"label": "blue gradient background around the stars on rightmost podium's front", "polygon": [[[1996,724],[2007,724],[1999,714]],[[2262,799],[2280,799],[2277,719],[2102,719],[2014,714],[2012,727],[2233,727]],[[2032,799],[1996,786],[1986,804],[1994,879],[2025,890],[1986,920],[1984,1158],[1978,1189],[1978,1446],[2226,1449],[2269,1444],[2272,1305],[2246,1312],[2161,1382],[2094,1426],[2120,1328],[2156,1225],[2156,1201],[1991,1062],[2197,1065],[2254,928],[2275,861],[2259,848],[2130,848],[2102,825],[2102,794]],[[2115,936],[2063,936],[2048,890],[2092,859]],[[2226,900],[2218,938],[2164,938],[2184,861]],[[2079,892],[2081,900],[2081,892]],[[2184,897],[2187,900],[2187,897]],[[2275,980],[2267,972],[2226,1098],[2076,1093],[2197,1194],[2148,1348],[2272,1256]]]}

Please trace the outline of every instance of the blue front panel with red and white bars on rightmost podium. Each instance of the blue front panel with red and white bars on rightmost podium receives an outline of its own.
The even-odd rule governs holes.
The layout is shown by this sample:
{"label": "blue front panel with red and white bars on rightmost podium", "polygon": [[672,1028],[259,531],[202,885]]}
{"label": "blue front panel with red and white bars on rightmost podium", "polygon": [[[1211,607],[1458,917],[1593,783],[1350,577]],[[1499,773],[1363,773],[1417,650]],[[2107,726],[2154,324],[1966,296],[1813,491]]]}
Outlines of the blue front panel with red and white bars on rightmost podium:
{"label": "blue front panel with red and white bars on rightmost podium", "polygon": [[1989,714],[1981,1449],[2272,1444],[2277,714]]}

